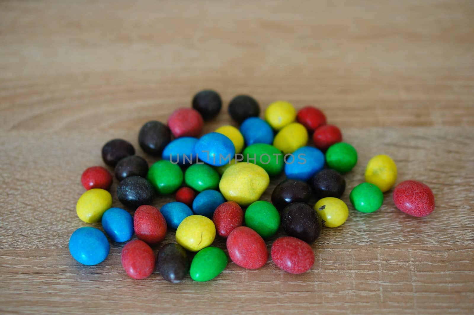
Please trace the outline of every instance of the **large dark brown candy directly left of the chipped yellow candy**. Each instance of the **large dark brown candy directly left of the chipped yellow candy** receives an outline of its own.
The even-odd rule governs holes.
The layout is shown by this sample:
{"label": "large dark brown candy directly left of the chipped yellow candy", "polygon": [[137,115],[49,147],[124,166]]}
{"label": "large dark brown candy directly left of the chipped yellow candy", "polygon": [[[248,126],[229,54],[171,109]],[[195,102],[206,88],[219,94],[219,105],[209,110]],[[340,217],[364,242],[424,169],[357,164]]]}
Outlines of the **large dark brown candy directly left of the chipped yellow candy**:
{"label": "large dark brown candy directly left of the chipped yellow candy", "polygon": [[282,212],[282,227],[289,236],[312,243],[321,232],[321,218],[309,204],[293,203]]}

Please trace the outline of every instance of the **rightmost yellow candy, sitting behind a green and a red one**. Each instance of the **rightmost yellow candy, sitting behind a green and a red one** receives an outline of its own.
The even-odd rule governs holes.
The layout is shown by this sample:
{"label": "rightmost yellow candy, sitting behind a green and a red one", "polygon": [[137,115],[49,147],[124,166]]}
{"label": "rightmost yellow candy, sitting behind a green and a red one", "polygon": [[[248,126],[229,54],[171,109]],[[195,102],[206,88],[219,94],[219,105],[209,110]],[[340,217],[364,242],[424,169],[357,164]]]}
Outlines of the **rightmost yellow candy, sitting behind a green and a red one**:
{"label": "rightmost yellow candy, sitting behind a green and a red one", "polygon": [[372,157],[365,168],[365,181],[379,187],[382,192],[392,188],[397,180],[397,166],[388,155]]}

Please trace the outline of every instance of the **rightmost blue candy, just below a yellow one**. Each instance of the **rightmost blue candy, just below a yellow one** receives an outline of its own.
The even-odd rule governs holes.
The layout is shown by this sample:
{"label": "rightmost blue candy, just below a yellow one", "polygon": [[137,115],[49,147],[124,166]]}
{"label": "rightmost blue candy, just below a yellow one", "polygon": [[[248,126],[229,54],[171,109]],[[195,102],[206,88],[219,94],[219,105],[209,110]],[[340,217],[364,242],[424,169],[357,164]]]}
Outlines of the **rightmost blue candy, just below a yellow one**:
{"label": "rightmost blue candy, just below a yellow one", "polygon": [[287,157],[285,164],[290,179],[307,181],[324,167],[324,154],[317,148],[301,147],[292,154],[294,157]]}

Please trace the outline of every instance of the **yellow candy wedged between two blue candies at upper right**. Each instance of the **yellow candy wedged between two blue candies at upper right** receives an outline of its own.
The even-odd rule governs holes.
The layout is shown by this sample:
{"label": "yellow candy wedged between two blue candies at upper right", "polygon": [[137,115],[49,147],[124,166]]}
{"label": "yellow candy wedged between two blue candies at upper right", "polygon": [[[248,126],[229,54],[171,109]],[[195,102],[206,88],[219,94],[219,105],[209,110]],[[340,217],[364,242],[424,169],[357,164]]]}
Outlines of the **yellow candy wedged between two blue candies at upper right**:
{"label": "yellow candy wedged between two blue candies at upper right", "polygon": [[293,153],[296,149],[304,147],[308,142],[308,131],[303,125],[293,122],[280,130],[275,139],[273,146],[283,154]]}

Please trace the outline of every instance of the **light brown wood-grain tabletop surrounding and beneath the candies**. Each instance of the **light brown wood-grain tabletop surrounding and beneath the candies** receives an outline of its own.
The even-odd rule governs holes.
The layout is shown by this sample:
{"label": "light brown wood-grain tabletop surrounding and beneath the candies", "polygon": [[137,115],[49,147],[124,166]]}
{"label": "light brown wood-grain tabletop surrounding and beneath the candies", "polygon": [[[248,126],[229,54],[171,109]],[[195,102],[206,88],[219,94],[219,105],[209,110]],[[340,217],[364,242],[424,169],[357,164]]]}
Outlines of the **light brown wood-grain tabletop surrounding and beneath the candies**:
{"label": "light brown wood-grain tabletop surrounding and beneath the candies", "polygon": [[[1,1],[0,312],[473,314],[473,16],[469,0]],[[207,283],[134,281],[123,244],[99,266],[75,262],[82,171],[111,138],[146,156],[140,126],[202,88],[225,103],[205,132],[230,122],[239,93],[320,107],[359,152],[346,202],[384,153],[397,182],[432,188],[435,211],[408,217],[391,192],[376,213],[350,207],[298,276],[270,260]]]}

